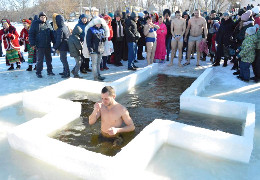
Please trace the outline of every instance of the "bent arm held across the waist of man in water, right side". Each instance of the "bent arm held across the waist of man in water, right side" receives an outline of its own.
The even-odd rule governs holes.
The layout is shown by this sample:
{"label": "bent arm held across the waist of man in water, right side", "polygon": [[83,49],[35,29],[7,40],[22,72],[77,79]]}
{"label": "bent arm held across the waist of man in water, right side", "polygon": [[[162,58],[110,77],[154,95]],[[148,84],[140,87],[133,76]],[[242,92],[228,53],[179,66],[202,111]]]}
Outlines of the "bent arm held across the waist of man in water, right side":
{"label": "bent arm held across the waist of man in water, right side", "polygon": [[131,131],[135,130],[134,122],[133,122],[132,118],[130,117],[129,112],[126,108],[123,109],[122,119],[123,119],[124,123],[126,124],[126,126],[121,127],[121,128],[115,128],[115,127],[110,128],[108,130],[109,135],[115,135],[115,134],[122,133],[122,132],[131,132]]}

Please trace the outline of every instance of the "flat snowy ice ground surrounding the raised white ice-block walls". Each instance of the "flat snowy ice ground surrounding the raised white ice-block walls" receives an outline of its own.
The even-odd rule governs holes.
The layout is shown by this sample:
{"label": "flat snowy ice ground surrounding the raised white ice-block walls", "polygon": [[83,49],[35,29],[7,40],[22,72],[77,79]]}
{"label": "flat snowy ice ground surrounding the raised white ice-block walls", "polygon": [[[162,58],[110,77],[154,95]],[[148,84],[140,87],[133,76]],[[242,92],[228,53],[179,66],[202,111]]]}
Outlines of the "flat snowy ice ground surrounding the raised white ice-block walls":
{"label": "flat snowy ice ground surrounding the raised white ice-block walls", "polygon": [[[17,30],[22,29],[17,25]],[[72,27],[73,28],[73,27]],[[24,53],[27,60],[27,53]],[[68,62],[72,69],[75,65],[73,58],[68,56]],[[184,63],[184,60],[183,60]],[[117,80],[127,76],[132,71],[127,70],[127,62],[124,66],[115,67],[108,65],[109,70],[102,71],[106,82]],[[191,65],[185,67],[167,67],[167,63],[160,64],[159,71],[169,75],[182,75],[198,77],[207,67],[210,67],[209,59],[201,62],[201,67],[196,67],[196,60],[191,60]],[[136,65],[140,68],[147,65],[146,61],[139,61]],[[193,153],[171,146],[163,146],[153,158],[147,170],[160,175],[165,179],[258,179],[260,172],[260,83],[245,83],[232,75],[231,64],[228,67],[214,68],[214,79],[201,96],[215,97],[256,104],[256,129],[254,137],[254,149],[249,164],[237,163],[221,159],[211,158],[199,153]],[[36,78],[35,71],[27,72],[27,63],[22,64],[20,70],[7,71],[5,58],[0,58],[0,108],[7,100],[19,102],[22,95],[57,82],[63,81],[58,75],[62,72],[62,64],[58,56],[53,56],[53,71],[56,76],[47,76],[44,65],[43,78]],[[82,75],[84,79],[92,80],[91,73]],[[228,92],[228,93],[226,93]],[[226,93],[226,94],[223,94]],[[13,97],[13,98],[11,98]],[[11,102],[10,102],[11,104]],[[235,109],[230,109],[230,111]],[[38,179],[77,179],[42,161],[34,159],[23,153],[12,150],[7,142],[6,133],[12,127],[22,124],[42,114],[24,109],[20,103],[0,109],[0,179],[10,180],[38,180]],[[51,148],[51,147],[50,147]]]}

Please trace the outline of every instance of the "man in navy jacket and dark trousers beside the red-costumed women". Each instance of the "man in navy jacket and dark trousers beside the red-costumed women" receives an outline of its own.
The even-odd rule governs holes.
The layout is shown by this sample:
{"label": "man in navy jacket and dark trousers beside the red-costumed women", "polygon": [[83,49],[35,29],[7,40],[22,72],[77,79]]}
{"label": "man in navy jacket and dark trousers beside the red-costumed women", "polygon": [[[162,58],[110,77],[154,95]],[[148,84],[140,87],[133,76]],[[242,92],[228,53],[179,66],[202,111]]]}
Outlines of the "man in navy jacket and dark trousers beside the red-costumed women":
{"label": "man in navy jacket and dark trousers beside the red-costumed women", "polygon": [[36,75],[42,78],[43,59],[47,64],[47,74],[54,76],[52,72],[51,42],[55,42],[53,29],[50,23],[46,22],[47,16],[44,12],[39,14],[39,19],[32,22],[29,30],[29,42],[37,51]]}

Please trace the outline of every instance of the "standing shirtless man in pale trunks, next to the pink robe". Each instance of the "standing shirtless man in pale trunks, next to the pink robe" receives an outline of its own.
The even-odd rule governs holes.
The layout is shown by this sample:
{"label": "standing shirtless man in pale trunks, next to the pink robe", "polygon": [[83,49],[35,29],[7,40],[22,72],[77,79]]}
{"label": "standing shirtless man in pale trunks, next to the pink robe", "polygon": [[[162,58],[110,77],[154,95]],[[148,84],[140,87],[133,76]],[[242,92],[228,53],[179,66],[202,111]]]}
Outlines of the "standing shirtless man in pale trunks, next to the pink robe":
{"label": "standing shirtless man in pale trunks, next to the pink robe", "polygon": [[183,35],[186,29],[186,21],[181,17],[181,12],[175,12],[175,18],[171,23],[171,33],[172,33],[172,52],[171,52],[171,62],[168,66],[173,65],[173,58],[176,55],[176,48],[179,50],[179,63],[178,65],[181,67],[181,59],[182,59],[182,47],[183,47]]}

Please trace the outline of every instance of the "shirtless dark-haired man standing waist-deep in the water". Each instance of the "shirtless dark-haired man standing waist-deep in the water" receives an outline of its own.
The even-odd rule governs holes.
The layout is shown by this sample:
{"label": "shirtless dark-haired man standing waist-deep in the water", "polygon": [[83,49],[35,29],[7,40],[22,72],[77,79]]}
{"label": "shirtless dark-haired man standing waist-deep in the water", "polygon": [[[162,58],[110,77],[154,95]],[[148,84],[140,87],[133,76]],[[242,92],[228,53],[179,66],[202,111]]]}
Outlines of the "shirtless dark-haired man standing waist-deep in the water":
{"label": "shirtless dark-haired man standing waist-deep in the water", "polygon": [[[94,110],[89,116],[89,124],[95,124],[101,116],[101,134],[105,138],[114,138],[119,133],[135,130],[135,125],[129,116],[128,110],[115,101],[115,90],[105,86],[101,91],[102,101],[94,105]],[[124,127],[121,127],[123,122]]]}

